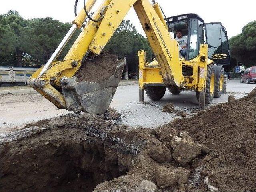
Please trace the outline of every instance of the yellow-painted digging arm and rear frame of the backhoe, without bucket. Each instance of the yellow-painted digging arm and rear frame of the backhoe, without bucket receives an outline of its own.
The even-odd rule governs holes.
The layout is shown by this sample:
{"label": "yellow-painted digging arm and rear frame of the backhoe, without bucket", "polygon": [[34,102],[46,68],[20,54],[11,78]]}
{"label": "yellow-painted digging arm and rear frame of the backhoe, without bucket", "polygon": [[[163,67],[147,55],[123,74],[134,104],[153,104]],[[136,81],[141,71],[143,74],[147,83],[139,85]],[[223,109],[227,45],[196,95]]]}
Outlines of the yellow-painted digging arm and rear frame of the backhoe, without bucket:
{"label": "yellow-painted digging arm and rear frame of the backhoe, without bucket", "polygon": [[[88,8],[94,2],[95,0],[88,0]],[[149,83],[160,83],[166,86],[175,85],[204,91],[206,74],[199,78],[198,68],[205,68],[207,70],[207,64],[212,62],[207,59],[208,46],[206,44],[201,45],[200,55],[191,61],[179,60],[178,42],[170,36],[159,5],[155,4],[153,7],[150,4],[150,0],[104,0],[93,16],[94,19],[100,18],[100,12],[104,8],[104,18],[99,22],[92,22],[91,20],[87,22],[64,60],[54,62],[40,77],[40,80],[46,81],[46,86],[34,89],[58,108],[66,108],[64,96],[58,91],[61,89],[61,78],[73,77],[82,66],[88,54],[99,55],[102,52],[104,46],[132,6],[138,15],[142,28],[156,56],[155,61],[146,65],[146,52],[139,52],[139,88],[144,89],[144,85]],[[85,17],[84,10],[81,10],[73,23],[77,24],[79,28]],[[202,57],[206,59],[203,61]],[[78,65],[72,66],[73,61],[78,62]],[[193,75],[186,77],[186,82],[184,82],[185,78],[182,75],[182,66],[184,65],[192,66],[193,68]],[[34,78],[37,78],[41,70],[42,68],[38,69],[31,76],[30,80],[32,81]]]}

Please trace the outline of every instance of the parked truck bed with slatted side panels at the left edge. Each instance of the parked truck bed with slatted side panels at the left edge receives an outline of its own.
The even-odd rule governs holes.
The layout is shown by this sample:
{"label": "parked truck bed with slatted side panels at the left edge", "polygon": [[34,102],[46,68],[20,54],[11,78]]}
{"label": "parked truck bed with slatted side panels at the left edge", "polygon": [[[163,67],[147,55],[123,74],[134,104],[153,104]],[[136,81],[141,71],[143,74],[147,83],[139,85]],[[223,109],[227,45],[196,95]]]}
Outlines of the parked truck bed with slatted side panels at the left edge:
{"label": "parked truck bed with slatted side panels at the left edge", "polygon": [[31,67],[0,67],[0,87],[25,86],[35,71]]}

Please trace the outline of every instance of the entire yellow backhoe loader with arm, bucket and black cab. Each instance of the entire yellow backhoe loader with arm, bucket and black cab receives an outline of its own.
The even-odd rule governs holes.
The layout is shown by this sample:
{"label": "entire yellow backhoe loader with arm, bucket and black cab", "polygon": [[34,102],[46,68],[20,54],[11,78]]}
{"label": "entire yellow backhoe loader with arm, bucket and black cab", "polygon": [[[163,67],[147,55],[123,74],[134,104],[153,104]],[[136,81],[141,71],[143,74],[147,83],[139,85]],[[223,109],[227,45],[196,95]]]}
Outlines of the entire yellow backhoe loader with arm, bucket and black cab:
{"label": "entire yellow backhoe loader with arm, bucket and black cab", "polygon": [[[228,38],[221,23],[205,24],[196,14],[164,18],[154,0],[153,5],[150,0],[104,0],[93,15],[89,14],[95,2],[84,0],[84,8],[54,54],[28,80],[50,102],[60,109],[92,114],[102,114],[108,108],[126,59],[103,82],[79,81],[75,74],[88,60],[100,55],[132,7],[156,57],[146,63],[146,52],[139,51],[140,102],[144,102],[144,90],[149,98],[159,100],[166,87],[173,94],[181,89],[196,90],[201,109],[214,96],[220,96],[224,79],[221,65],[230,62]],[[55,61],[74,31],[81,27],[82,32],[65,58]],[[185,57],[180,57],[178,42],[171,35],[178,29],[188,36]]]}

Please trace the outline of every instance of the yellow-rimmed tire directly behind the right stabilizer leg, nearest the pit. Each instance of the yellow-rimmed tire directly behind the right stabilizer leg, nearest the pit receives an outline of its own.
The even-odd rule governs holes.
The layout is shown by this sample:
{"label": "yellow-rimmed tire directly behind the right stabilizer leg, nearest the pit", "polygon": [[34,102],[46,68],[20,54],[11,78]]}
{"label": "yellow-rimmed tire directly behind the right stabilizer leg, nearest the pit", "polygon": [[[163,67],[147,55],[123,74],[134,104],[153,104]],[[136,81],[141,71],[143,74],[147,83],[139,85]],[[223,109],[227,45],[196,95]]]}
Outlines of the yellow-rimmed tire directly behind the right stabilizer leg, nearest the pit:
{"label": "yellow-rimmed tire directly behind the right stabilizer leg, nearest the pit", "polygon": [[[215,89],[215,71],[214,65],[210,64],[207,66],[207,77],[206,77],[206,92],[205,92],[205,104],[210,104],[214,97]],[[199,92],[196,91],[196,98],[199,102]]]}

